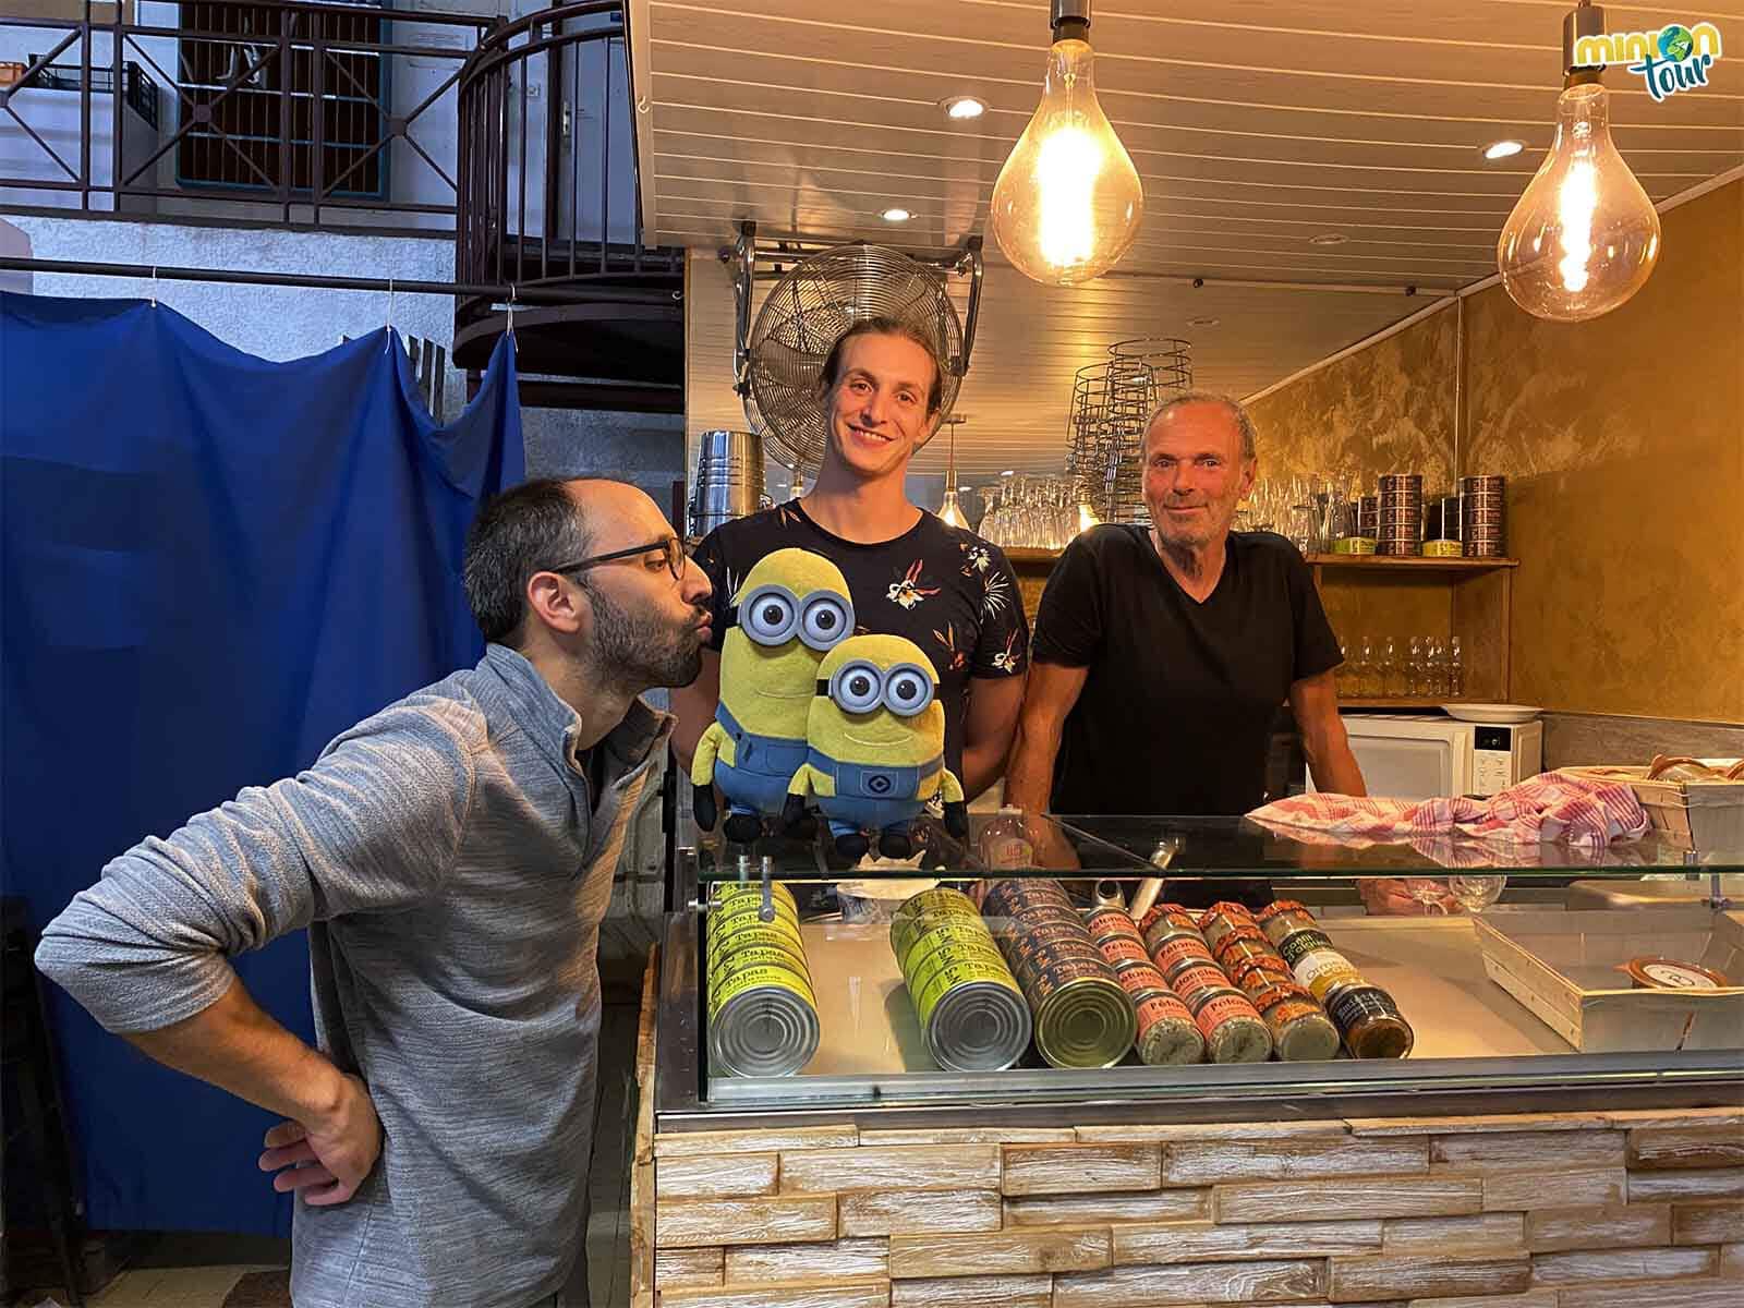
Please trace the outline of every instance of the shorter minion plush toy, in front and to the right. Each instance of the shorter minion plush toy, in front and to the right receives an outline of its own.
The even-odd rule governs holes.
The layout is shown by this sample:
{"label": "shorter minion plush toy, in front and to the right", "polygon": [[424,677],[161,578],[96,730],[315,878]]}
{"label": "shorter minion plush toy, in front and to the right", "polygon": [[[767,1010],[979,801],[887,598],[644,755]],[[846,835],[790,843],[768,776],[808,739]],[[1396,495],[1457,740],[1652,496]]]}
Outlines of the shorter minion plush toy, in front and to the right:
{"label": "shorter minion plush toy, in front and to the right", "polygon": [[787,788],[792,823],[814,797],[837,853],[858,858],[879,834],[879,853],[914,853],[909,828],[926,802],[945,799],[945,830],[968,835],[963,783],[945,767],[945,710],[938,673],[903,637],[849,637],[818,664],[806,722],[806,762]]}

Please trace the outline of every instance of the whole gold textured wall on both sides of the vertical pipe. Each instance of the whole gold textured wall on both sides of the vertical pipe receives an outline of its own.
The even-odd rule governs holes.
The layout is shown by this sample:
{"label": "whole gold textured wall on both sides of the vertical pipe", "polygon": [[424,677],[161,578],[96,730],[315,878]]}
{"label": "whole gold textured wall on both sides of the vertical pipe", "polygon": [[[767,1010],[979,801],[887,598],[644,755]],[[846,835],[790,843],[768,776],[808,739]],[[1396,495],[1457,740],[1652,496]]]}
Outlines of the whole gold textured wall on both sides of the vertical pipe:
{"label": "whole gold textured wall on both sides of the vertical pipe", "polygon": [[[1512,698],[1744,722],[1744,181],[1662,216],[1648,284],[1591,323],[1465,302],[1460,473],[1509,478]],[[1261,474],[1451,481],[1453,309],[1252,405]]]}

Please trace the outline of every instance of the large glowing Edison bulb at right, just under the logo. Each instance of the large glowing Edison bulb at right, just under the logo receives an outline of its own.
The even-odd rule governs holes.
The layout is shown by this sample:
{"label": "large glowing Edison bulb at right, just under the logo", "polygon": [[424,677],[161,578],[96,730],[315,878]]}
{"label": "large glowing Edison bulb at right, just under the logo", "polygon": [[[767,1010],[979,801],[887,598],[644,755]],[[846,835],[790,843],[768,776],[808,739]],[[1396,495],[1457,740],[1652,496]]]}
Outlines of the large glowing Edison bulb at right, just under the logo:
{"label": "large glowing Edison bulb at right, just under the logo", "polygon": [[1603,85],[1563,92],[1550,153],[1502,227],[1502,284],[1536,317],[1608,314],[1659,260],[1659,213],[1611,143],[1608,117]]}

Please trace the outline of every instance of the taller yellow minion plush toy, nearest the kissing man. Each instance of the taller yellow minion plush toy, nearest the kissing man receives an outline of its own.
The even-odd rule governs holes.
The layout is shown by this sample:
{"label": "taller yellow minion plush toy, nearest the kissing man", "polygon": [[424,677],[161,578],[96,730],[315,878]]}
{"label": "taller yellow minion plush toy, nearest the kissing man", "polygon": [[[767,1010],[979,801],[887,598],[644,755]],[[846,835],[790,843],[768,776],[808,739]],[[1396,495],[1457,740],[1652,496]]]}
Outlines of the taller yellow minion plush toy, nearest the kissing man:
{"label": "taller yellow minion plush toy, nearest the kissing man", "polygon": [[794,769],[806,762],[818,664],[853,630],[848,579],[821,555],[776,549],[746,574],[720,645],[720,706],[691,762],[705,832],[717,818],[713,785],[727,797],[732,841],[755,841],[762,818],[781,813]]}

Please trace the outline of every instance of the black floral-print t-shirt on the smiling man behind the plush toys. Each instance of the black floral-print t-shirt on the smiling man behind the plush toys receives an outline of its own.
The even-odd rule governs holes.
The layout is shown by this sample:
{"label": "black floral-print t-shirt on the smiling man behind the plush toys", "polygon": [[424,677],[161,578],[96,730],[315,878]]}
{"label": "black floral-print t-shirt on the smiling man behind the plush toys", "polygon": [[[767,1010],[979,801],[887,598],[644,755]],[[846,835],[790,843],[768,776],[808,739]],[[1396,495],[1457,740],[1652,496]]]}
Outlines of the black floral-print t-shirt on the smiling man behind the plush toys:
{"label": "black floral-print t-shirt on the smiling man behind the plush toys", "polygon": [[764,555],[787,548],[811,549],[842,570],[856,633],[907,637],[928,652],[945,708],[945,766],[963,776],[970,677],[1015,677],[1029,664],[1029,621],[1017,574],[999,548],[931,513],[895,541],[842,541],[807,518],[797,499],[722,523],[696,548],[696,562],[715,586],[717,651],[745,574]]}

